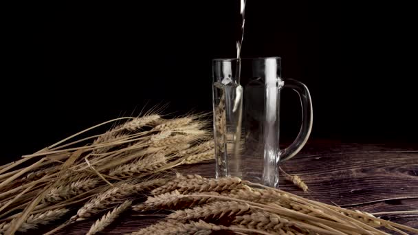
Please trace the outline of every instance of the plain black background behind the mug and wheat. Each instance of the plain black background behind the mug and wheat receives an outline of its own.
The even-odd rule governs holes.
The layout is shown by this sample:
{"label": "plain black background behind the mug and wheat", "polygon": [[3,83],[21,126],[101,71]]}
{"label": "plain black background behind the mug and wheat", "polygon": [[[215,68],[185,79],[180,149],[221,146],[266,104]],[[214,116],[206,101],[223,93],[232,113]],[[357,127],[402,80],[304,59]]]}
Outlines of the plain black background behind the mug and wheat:
{"label": "plain black background behind the mug and wheat", "polygon": [[[283,77],[309,87],[312,138],[416,142],[412,9],[248,0],[242,56],[281,56]],[[211,59],[235,56],[238,12],[238,0],[65,3],[29,15],[17,8],[3,34],[2,160],[144,105],[211,111]],[[292,139],[296,94],[285,91],[282,104],[282,135]]]}

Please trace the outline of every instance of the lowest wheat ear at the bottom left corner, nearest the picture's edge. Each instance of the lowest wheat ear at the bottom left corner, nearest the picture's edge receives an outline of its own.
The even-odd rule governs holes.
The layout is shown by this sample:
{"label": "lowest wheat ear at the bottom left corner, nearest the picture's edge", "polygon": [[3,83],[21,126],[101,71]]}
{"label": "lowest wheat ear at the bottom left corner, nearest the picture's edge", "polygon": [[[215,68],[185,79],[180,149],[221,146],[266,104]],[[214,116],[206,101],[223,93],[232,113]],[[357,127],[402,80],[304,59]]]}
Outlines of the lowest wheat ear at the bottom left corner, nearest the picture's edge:
{"label": "lowest wheat ear at the bottom left corner, nearest the picture's edge", "polygon": [[[56,210],[48,210],[46,212],[38,213],[38,214],[31,214],[28,219],[26,219],[19,229],[18,232],[28,232],[28,230],[33,230],[38,228],[39,225],[47,225],[51,223],[52,221],[56,221],[57,219],[60,219],[61,216],[69,212],[68,209],[61,208]],[[14,223],[16,219],[13,219],[10,221],[10,223],[2,223],[0,225],[0,234],[5,234],[5,232],[8,230],[10,225]]]}

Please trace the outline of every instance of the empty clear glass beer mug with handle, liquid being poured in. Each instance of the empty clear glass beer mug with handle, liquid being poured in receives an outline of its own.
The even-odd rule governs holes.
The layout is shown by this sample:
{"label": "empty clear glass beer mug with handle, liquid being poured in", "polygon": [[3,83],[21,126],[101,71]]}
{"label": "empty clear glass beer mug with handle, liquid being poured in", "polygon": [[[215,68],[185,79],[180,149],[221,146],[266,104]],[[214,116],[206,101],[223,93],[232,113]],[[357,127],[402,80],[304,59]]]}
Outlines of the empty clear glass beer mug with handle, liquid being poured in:
{"label": "empty clear glass beer mug with handle, liquid being poured in", "polygon": [[[240,177],[278,187],[278,164],[307,142],[312,128],[309,90],[281,78],[281,58],[214,59],[213,117],[217,177]],[[294,142],[279,149],[280,94],[292,88],[302,103],[302,126]]]}

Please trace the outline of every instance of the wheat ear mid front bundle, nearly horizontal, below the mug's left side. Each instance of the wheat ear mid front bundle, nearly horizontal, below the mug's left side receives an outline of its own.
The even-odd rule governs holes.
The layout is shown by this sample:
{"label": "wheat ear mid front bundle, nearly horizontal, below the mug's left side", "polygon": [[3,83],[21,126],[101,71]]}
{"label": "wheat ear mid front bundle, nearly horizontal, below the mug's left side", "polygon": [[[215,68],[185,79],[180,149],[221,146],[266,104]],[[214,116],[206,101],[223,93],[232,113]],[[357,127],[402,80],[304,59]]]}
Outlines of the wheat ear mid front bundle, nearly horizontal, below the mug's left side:
{"label": "wheat ear mid front bundle, nearly horizontal, below the mug's left side", "polygon": [[235,216],[250,211],[250,206],[246,203],[236,201],[214,201],[206,205],[197,206],[192,209],[177,210],[167,216],[167,219],[177,221],[188,221],[191,219],[220,219],[223,216]]}

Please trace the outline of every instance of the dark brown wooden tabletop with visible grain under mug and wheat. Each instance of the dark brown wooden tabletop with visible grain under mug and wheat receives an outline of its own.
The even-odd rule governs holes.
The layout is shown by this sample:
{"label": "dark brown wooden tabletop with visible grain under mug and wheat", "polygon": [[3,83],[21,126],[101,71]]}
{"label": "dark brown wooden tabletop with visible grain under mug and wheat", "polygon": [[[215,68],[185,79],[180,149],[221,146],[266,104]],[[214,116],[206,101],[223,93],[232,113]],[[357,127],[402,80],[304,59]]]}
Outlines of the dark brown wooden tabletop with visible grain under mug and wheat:
{"label": "dark brown wooden tabletop with visible grain under mug and wheat", "polygon": [[[302,192],[285,177],[281,177],[280,188],[308,199],[372,213],[418,210],[418,144],[311,141],[282,168],[299,175],[311,191]],[[214,163],[180,171],[214,177]],[[162,218],[124,215],[104,234],[134,232]],[[384,214],[381,218],[418,228],[418,214]],[[86,234],[93,222],[70,225],[58,234]]]}

